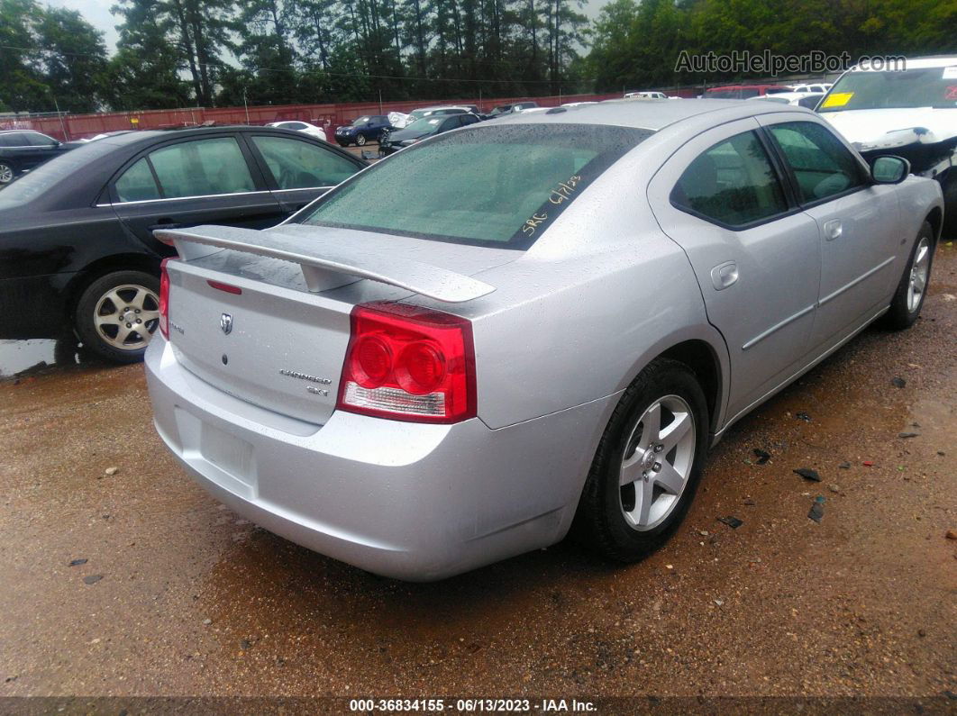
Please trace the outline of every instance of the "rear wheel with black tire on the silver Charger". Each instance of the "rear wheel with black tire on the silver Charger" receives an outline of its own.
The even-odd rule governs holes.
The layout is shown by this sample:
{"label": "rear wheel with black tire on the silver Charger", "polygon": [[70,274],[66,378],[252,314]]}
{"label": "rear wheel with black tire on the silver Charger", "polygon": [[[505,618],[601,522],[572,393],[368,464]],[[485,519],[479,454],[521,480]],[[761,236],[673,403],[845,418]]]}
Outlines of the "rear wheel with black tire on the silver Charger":
{"label": "rear wheel with black tire on the silver Charger", "polygon": [[[681,424],[683,437],[674,444],[678,436],[669,428]],[[622,395],[598,444],[575,515],[579,537],[619,562],[657,550],[694,499],[707,440],[707,401],[698,380],[683,363],[657,358]],[[625,474],[637,479],[622,486]]]}

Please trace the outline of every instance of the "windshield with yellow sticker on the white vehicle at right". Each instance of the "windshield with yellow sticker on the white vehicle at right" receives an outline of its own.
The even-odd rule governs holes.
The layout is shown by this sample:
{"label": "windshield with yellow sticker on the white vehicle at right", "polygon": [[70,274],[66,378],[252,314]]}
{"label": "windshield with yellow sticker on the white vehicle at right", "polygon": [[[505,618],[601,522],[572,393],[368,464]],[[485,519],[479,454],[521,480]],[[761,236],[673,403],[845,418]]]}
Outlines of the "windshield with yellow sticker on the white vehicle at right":
{"label": "windshield with yellow sticker on the white vehicle at right", "polygon": [[837,80],[817,111],[914,107],[957,107],[957,65],[903,72],[849,72]]}

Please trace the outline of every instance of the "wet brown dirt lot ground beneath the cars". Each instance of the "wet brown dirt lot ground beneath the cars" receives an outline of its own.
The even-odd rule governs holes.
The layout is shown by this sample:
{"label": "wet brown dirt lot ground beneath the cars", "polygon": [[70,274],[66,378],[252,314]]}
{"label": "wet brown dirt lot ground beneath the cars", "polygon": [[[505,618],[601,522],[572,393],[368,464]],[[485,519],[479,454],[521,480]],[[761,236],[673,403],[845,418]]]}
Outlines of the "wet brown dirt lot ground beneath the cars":
{"label": "wet brown dirt lot ground beneath the cars", "polygon": [[[676,538],[626,569],[562,544],[437,584],[367,575],[195,486],[153,431],[142,366],[0,381],[0,696],[810,694],[946,709],[955,296],[945,246],[918,324],[868,330],[738,423]],[[0,362],[35,350],[0,345]]]}

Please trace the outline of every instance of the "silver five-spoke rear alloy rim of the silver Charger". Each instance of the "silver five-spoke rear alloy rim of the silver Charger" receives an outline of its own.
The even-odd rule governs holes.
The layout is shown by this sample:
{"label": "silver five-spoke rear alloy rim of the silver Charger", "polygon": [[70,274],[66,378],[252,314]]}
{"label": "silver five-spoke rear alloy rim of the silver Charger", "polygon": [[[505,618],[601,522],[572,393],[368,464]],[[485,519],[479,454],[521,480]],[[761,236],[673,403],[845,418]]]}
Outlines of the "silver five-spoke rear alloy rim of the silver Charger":
{"label": "silver five-spoke rear alloy rim of the silver Charger", "polygon": [[632,529],[655,529],[678,505],[695,460],[695,430],[691,406],[677,395],[652,402],[634,423],[618,482]]}

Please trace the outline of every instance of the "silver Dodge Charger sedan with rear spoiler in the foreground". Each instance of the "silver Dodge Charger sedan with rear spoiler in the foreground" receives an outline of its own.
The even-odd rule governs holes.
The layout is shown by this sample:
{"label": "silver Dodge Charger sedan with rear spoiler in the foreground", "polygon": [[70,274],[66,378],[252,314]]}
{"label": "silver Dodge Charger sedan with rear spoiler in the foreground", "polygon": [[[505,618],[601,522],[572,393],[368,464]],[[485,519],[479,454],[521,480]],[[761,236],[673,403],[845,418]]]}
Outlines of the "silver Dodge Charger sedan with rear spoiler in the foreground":
{"label": "silver Dodge Charger sedan with rear spoiler in the foreground", "polygon": [[380,575],[573,522],[632,561],[728,425],[916,320],[943,208],[907,169],[800,108],[617,101],[424,141],[277,228],[158,231],[156,427],[235,511]]}

